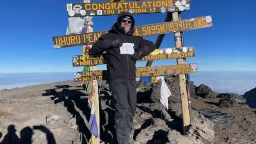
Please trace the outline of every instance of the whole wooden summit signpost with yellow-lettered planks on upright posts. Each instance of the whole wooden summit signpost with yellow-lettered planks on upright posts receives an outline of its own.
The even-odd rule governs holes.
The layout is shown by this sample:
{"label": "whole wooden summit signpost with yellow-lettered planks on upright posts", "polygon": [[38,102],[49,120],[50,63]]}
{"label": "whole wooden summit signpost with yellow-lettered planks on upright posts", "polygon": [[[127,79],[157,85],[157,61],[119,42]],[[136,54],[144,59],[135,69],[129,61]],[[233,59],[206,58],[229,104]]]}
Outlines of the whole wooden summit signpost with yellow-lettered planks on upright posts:
{"label": "whole wooden summit signpost with yellow-lettered planks on upright posts", "polygon": [[[188,131],[188,126],[191,122],[185,74],[197,72],[198,66],[196,63],[185,63],[185,58],[195,56],[195,48],[184,46],[182,32],[186,30],[211,27],[212,17],[203,16],[181,20],[181,18],[179,18],[180,12],[190,10],[190,0],[146,0],[130,2],[124,2],[124,0],[109,0],[109,2],[104,3],[90,3],[90,0],[84,0],[84,2],[87,3],[67,4],[68,17],[117,15],[122,11],[130,12],[132,14],[167,13],[163,23],[134,27],[134,35],[136,36],[145,37],[158,35],[155,43],[156,50],[141,60],[138,60],[148,62],[145,67],[136,68],[136,77],[162,76],[170,74],[178,75],[182,105],[183,134],[185,134]],[[54,36],[52,38],[53,45],[54,48],[89,45],[96,42],[100,36],[107,32],[108,30],[88,32],[85,34]],[[169,33],[174,33],[176,48],[158,49],[165,34]],[[72,56],[72,64],[74,67],[107,64],[107,58],[107,54],[102,54],[100,56],[76,55]],[[151,66],[153,60],[172,58],[176,58],[176,65]],[[74,73],[74,80],[76,82],[88,81],[91,78],[94,80],[106,80],[108,79],[108,74],[106,70],[97,70],[96,68],[91,68],[90,71],[86,73]],[[140,88],[142,84],[143,82],[140,81],[137,85],[137,89]],[[97,85],[95,85],[95,87],[97,87]],[[96,93],[98,94],[98,89]],[[98,97],[96,99],[98,99]],[[96,113],[98,114],[98,112],[99,109],[97,107]],[[99,124],[99,114],[97,116],[97,123]],[[95,140],[95,143],[99,144],[99,138]]]}

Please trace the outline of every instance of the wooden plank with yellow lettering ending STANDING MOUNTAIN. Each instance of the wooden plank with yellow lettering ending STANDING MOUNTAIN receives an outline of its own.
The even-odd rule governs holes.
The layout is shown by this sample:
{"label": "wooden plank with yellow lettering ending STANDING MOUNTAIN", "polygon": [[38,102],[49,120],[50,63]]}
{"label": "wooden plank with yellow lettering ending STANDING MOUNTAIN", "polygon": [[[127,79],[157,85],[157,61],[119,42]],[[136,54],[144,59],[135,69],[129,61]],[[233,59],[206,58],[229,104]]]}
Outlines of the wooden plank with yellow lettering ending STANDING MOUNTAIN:
{"label": "wooden plank with yellow lettering ending STANDING MOUNTAIN", "polygon": [[[195,47],[181,47],[181,48],[162,48],[156,49],[151,52],[148,56],[143,57],[138,61],[146,60],[164,60],[173,58],[187,58],[196,56]],[[82,60],[82,55],[72,56],[73,67],[76,66],[91,66],[99,64],[107,64],[107,54],[102,54],[100,56],[90,56],[86,55],[84,60]]]}

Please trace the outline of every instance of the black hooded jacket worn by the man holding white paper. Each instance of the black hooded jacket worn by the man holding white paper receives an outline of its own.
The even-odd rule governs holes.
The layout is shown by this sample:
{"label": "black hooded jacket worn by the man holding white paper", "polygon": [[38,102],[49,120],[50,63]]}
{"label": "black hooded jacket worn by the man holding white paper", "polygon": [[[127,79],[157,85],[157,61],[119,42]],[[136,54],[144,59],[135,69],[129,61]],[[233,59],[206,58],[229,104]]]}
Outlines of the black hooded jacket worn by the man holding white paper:
{"label": "black hooded jacket worn by the man holding white paper", "polygon": [[99,55],[102,54],[104,51],[108,54],[108,78],[110,80],[115,79],[126,79],[131,80],[136,78],[136,67],[134,62],[131,59],[130,54],[120,54],[120,48],[108,48],[105,46],[103,41],[106,39],[121,39],[123,43],[133,43],[134,44],[134,51],[136,52],[138,48],[143,48],[143,56],[149,54],[150,52],[154,51],[155,47],[153,42],[148,40],[144,40],[141,36],[134,36],[134,19],[130,28],[130,31],[124,33],[124,28],[120,26],[120,18],[122,16],[130,16],[132,19],[132,14],[129,12],[122,12],[118,18],[117,22],[112,26],[112,29],[105,35],[102,35],[99,40],[92,45],[92,49],[89,51],[90,55]]}

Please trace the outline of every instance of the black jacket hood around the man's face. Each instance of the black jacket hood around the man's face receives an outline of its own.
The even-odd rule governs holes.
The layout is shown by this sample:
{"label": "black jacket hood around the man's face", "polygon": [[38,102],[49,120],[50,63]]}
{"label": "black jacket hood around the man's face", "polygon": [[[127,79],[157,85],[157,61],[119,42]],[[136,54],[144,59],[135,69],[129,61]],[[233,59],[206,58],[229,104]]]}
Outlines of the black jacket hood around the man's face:
{"label": "black jacket hood around the man's face", "polygon": [[[122,18],[123,16],[129,16],[130,19],[132,19],[132,25],[131,25],[130,31],[127,33],[124,33],[124,28],[121,27],[120,18]],[[134,24],[135,24],[135,20],[130,12],[121,12],[117,17],[116,23],[114,23],[114,25],[112,26],[112,30],[122,34],[132,35],[134,33]]]}

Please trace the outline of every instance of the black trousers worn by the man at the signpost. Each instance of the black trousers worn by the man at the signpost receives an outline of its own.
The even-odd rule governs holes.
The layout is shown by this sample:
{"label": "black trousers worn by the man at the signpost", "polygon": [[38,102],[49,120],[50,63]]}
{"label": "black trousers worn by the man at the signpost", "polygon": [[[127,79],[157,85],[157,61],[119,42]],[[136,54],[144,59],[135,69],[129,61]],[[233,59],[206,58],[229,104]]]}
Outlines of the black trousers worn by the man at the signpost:
{"label": "black trousers worn by the man at the signpost", "polygon": [[118,144],[128,144],[133,116],[136,112],[136,82],[110,80],[109,88],[115,99],[116,140]]}

